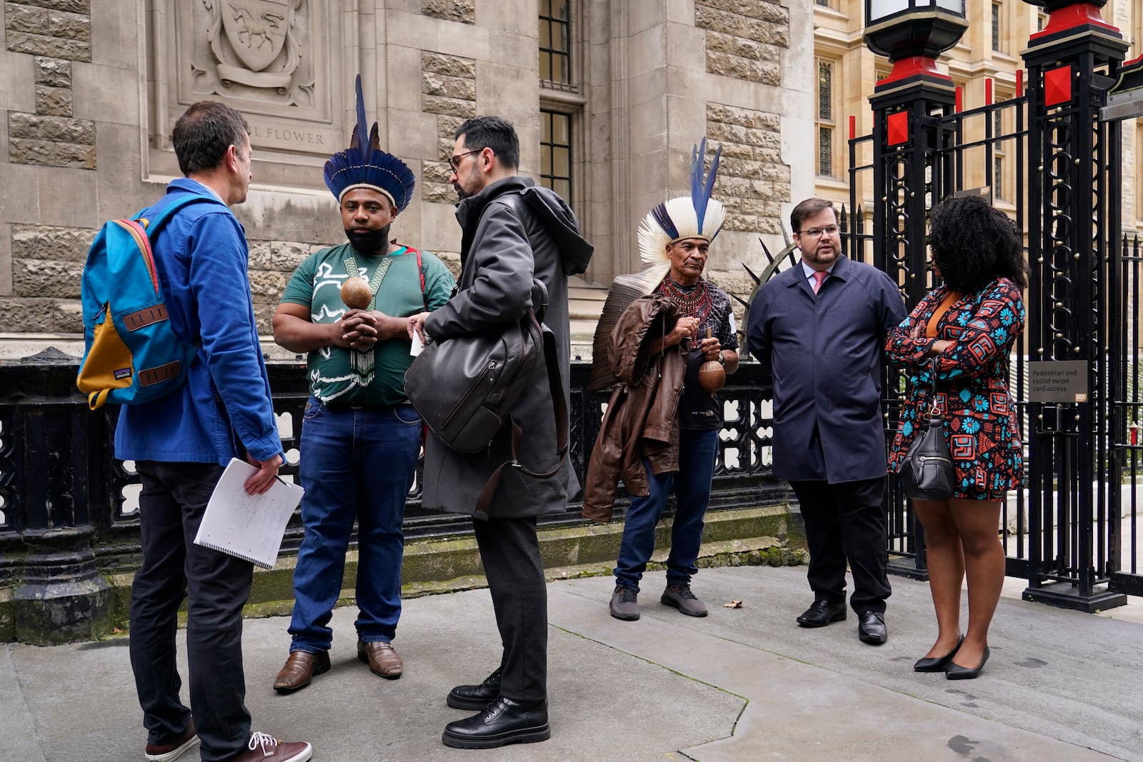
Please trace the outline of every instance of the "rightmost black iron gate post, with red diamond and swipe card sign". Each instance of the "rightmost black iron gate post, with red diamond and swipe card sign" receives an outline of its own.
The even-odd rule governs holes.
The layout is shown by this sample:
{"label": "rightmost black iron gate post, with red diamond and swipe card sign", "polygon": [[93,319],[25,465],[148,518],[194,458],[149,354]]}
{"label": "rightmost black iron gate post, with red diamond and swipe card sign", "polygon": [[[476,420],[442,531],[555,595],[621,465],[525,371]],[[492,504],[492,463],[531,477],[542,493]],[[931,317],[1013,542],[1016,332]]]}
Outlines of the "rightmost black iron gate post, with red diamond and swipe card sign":
{"label": "rightmost black iron gate post, with red diamond and swipe card sign", "polygon": [[[1029,586],[1024,600],[1095,611],[1126,603],[1106,583],[1108,489],[1118,489],[1106,386],[1108,165],[1118,129],[1101,125],[1106,75],[1127,50],[1100,17],[1106,0],[1024,0],[1048,24],[1023,53],[1029,109]],[[1088,223],[1088,220],[1092,220]],[[1037,386],[1077,362],[1082,392]],[[1040,366],[1039,368],[1037,366]]]}

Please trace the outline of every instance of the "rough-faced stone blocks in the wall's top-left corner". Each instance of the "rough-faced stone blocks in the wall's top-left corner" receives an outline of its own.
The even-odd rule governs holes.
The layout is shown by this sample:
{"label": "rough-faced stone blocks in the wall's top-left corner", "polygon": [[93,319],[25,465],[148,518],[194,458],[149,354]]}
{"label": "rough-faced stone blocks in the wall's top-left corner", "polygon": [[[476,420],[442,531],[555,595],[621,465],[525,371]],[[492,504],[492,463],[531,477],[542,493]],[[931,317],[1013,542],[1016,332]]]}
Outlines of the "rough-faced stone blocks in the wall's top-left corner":
{"label": "rough-faced stone blocks in the wall's top-left corner", "polygon": [[34,56],[35,112],[8,112],[9,161],[95,169],[95,122],[72,118],[72,61],[91,61],[88,0],[6,2],[5,42]]}

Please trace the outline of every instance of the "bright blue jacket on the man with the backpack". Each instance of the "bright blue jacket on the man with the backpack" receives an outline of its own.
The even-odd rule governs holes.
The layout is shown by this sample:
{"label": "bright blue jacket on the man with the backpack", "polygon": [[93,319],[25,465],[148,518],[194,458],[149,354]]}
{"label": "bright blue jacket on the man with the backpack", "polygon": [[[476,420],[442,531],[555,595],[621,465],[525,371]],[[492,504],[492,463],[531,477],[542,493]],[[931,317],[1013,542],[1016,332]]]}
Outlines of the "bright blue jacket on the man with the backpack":
{"label": "bright blue jacket on the man with the backpack", "polygon": [[151,246],[171,328],[201,346],[181,390],[120,409],[115,457],[225,465],[248,451],[266,460],[282,447],[254,319],[246,231],[190,178],[170,183],[152,209],[184,193],[205,199],[175,212]]}

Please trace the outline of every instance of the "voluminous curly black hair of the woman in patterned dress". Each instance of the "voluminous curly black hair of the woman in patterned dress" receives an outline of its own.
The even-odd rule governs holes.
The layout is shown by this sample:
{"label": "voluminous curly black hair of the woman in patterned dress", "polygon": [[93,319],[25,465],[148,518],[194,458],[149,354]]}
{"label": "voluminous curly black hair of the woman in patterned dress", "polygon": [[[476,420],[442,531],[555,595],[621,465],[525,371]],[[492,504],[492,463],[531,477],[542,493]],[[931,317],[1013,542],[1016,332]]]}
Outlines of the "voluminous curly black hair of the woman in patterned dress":
{"label": "voluminous curly black hair of the woman in patterned dress", "polygon": [[964,294],[1008,278],[1028,287],[1028,262],[1016,223],[983,196],[949,198],[929,211],[929,248],[945,284]]}

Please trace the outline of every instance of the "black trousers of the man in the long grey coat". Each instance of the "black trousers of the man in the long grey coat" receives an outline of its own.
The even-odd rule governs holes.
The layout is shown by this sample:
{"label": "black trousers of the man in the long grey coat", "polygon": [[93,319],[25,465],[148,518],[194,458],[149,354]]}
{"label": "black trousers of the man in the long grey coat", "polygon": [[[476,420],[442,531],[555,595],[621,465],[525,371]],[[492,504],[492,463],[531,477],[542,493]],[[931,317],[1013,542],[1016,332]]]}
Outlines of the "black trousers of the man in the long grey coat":
{"label": "black trousers of the man in the long grey coat", "polygon": [[473,520],[504,655],[501,695],[547,698],[547,587],[535,518]]}

